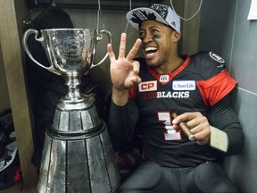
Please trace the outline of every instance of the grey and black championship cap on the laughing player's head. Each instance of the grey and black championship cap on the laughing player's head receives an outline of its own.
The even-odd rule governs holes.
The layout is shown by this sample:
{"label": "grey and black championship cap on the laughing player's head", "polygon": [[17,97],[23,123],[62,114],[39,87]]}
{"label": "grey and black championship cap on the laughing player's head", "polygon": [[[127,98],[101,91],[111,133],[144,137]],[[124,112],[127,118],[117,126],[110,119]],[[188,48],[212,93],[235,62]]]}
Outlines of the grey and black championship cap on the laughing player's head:
{"label": "grey and black championship cap on the laughing player's head", "polygon": [[126,18],[136,29],[139,29],[142,21],[151,20],[162,22],[180,33],[180,18],[178,14],[170,6],[164,4],[152,4],[149,8],[135,8],[127,13]]}

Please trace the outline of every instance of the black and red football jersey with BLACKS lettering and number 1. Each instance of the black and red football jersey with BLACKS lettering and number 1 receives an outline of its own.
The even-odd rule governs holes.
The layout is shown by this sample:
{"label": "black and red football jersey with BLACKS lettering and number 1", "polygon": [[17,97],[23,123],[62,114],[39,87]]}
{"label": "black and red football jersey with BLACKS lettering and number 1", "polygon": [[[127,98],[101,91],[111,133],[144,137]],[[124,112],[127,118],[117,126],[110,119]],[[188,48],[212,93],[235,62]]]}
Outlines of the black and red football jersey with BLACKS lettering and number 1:
{"label": "black and red football jersey with BLACKS lettering and number 1", "polygon": [[[219,55],[200,52],[187,56],[174,72],[157,74],[140,62],[142,82],[131,88],[139,110],[137,127],[143,130],[145,157],[168,167],[189,167],[215,160],[208,145],[198,146],[172,127],[171,113],[200,112],[206,116],[212,105],[235,88]],[[213,153],[213,154],[212,154]]]}

